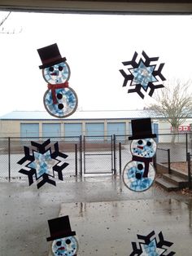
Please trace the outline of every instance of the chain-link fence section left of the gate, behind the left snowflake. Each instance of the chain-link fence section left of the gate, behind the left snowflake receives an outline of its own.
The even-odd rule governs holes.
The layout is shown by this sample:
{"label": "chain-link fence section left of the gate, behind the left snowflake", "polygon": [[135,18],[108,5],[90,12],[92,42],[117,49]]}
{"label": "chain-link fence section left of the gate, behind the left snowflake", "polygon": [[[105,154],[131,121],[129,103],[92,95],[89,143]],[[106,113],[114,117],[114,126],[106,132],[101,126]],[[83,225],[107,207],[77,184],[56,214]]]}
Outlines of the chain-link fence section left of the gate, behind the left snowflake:
{"label": "chain-link fence section left of the gate, behind the left snowflake", "polygon": [[[80,173],[80,168],[77,162],[81,158],[81,138],[76,137],[64,137],[64,138],[49,138],[50,143],[47,145],[46,150],[50,148],[50,152],[55,152],[55,143],[58,142],[59,152],[63,152],[67,155],[65,162],[68,163],[68,166],[63,170],[64,177],[75,176]],[[34,152],[38,152],[38,148],[32,145],[34,143],[43,143],[47,138],[1,138],[0,139],[0,178],[1,179],[26,179],[26,175],[20,174],[24,166],[30,161],[25,161],[24,165],[19,165],[18,161],[25,156],[24,148],[29,149],[30,155]],[[59,157],[57,157],[59,161]]]}

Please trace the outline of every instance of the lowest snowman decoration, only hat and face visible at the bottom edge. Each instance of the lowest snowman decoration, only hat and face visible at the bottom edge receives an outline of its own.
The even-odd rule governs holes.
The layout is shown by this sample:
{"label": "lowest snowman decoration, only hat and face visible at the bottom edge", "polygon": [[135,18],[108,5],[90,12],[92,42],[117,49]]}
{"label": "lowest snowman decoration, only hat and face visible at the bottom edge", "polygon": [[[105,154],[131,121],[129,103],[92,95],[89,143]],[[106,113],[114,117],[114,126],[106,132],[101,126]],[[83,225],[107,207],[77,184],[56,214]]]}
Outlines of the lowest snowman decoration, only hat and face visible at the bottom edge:
{"label": "lowest snowman decoration, only hat and face visible at the bottom edge", "polygon": [[48,220],[50,227],[50,237],[46,241],[53,241],[52,254],[54,256],[76,256],[78,251],[78,241],[76,232],[71,230],[69,218],[67,216]]}

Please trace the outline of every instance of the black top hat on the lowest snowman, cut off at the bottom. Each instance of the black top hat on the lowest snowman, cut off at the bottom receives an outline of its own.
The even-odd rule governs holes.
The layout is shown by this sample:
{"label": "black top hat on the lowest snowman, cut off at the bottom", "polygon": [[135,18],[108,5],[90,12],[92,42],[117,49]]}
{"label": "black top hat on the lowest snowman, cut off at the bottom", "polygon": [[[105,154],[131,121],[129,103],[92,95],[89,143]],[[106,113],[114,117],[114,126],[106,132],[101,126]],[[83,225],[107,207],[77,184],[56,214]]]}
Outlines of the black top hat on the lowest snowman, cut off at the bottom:
{"label": "black top hat on the lowest snowman, cut off at the bottom", "polygon": [[67,216],[48,220],[50,227],[50,237],[46,241],[53,241],[67,236],[76,236],[76,232],[71,230],[69,218]]}

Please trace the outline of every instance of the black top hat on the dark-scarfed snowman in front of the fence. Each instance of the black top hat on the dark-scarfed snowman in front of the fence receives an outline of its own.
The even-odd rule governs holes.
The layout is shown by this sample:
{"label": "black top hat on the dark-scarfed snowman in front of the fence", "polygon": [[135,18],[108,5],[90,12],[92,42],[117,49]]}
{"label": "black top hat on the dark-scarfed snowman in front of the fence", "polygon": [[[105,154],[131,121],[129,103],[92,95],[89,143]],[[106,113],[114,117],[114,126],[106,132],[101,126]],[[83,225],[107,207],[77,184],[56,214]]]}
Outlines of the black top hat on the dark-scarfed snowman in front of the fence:
{"label": "black top hat on the dark-scarfed snowman in front of the fence", "polygon": [[152,134],[151,131],[151,118],[134,119],[131,121],[131,126],[133,135],[129,137],[129,140],[157,137],[157,135]]}

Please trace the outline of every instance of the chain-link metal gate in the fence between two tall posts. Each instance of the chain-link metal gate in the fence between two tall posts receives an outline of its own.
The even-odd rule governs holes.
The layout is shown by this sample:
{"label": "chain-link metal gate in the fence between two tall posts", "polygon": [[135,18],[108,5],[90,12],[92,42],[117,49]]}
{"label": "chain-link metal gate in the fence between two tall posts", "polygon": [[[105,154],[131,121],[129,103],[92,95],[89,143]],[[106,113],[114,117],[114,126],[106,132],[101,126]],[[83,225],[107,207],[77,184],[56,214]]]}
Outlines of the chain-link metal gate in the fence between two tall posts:
{"label": "chain-link metal gate in the fence between two tall posts", "polygon": [[84,174],[116,173],[113,135],[83,137]]}

